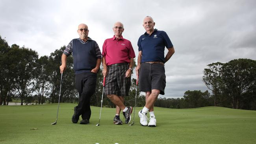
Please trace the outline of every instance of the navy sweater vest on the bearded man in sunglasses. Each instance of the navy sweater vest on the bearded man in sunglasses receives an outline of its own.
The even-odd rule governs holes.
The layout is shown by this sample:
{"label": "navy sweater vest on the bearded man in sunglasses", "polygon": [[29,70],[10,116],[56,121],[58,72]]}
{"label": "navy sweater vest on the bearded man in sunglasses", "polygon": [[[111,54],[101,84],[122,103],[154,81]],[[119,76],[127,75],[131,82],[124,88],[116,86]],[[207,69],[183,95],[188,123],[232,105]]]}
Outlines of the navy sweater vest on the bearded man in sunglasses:
{"label": "navy sweater vest on the bearded man in sunglasses", "polygon": [[72,40],[74,70],[76,74],[91,71],[96,66],[96,41],[89,40],[82,43],[78,39]]}

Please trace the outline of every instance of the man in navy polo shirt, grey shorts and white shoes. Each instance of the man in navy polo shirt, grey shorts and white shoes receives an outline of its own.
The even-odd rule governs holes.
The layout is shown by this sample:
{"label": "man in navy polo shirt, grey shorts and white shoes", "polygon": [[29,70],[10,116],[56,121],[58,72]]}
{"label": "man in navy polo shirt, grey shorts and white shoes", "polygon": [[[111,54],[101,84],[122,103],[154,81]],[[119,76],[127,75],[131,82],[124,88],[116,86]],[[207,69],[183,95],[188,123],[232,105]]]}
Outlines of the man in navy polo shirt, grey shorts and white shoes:
{"label": "man in navy polo shirt, grey shorts and white shoes", "polygon": [[[146,104],[139,111],[140,124],[142,126],[155,127],[156,116],[154,115],[154,103],[158,95],[164,95],[165,89],[165,67],[166,63],[174,54],[171,40],[165,31],[154,29],[155,22],[152,17],[145,17],[143,27],[146,32],[139,37],[138,65],[136,73],[139,74],[139,90],[146,92]],[[165,47],[168,49],[164,55]],[[150,118],[148,122],[147,113]]]}

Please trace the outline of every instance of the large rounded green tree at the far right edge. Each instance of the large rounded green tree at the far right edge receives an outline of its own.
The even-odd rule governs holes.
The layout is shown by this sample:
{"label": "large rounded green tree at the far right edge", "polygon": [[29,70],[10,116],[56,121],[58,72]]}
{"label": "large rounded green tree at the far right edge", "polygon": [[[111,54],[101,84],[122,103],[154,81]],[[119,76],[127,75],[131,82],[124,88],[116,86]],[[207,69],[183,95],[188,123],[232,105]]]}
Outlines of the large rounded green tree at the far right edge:
{"label": "large rounded green tree at the far right edge", "polygon": [[256,83],[256,61],[251,59],[234,59],[222,66],[222,80],[226,96],[232,98],[233,109],[241,107],[243,94]]}

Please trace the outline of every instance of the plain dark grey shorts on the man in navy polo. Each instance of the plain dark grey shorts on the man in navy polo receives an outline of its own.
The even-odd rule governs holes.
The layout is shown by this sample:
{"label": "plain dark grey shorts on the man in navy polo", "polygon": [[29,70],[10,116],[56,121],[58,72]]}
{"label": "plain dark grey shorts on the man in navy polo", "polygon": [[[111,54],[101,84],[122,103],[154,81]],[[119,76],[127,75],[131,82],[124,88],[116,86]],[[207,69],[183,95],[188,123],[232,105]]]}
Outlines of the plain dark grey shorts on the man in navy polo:
{"label": "plain dark grey shorts on the man in navy polo", "polygon": [[165,94],[165,66],[160,63],[141,63],[139,69],[139,90],[151,92],[152,89],[160,90]]}

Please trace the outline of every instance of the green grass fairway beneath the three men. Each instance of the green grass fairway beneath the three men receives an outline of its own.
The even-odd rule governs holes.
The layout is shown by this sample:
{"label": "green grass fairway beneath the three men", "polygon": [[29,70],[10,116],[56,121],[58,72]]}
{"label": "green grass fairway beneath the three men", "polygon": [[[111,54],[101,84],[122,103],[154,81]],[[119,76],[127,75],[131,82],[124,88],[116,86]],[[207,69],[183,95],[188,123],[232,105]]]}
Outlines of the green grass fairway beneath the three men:
{"label": "green grass fairway beneath the three men", "polygon": [[143,127],[137,114],[141,107],[135,109],[134,126],[114,125],[115,109],[104,107],[95,126],[100,107],[91,107],[90,124],[81,125],[71,122],[75,105],[60,103],[56,125],[51,123],[58,103],[0,106],[0,144],[256,144],[256,111],[155,107],[157,126]]}

